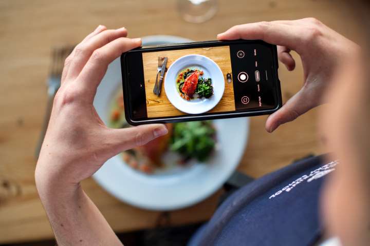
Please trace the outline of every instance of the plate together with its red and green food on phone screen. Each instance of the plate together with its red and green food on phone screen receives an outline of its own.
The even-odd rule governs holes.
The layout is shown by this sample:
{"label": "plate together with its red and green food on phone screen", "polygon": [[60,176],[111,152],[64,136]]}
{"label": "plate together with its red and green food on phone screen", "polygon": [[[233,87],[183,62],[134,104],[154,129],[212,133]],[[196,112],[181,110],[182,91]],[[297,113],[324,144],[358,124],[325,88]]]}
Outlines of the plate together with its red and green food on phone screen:
{"label": "plate together with its red and green food on phone screen", "polygon": [[225,76],[209,57],[184,55],[169,67],[164,78],[164,90],[170,103],[178,110],[201,114],[213,109],[223,97]]}

